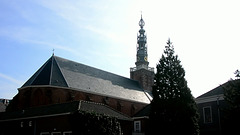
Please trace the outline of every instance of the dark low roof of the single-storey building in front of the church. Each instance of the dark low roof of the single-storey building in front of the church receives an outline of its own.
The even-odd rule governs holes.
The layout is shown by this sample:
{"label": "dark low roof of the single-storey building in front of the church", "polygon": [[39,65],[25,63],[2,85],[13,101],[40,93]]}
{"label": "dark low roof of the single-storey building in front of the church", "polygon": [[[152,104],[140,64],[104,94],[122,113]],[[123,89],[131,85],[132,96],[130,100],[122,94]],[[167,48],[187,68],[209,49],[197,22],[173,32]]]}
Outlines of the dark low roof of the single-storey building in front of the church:
{"label": "dark low roof of the single-storey building in front of the church", "polygon": [[3,113],[0,113],[0,121],[68,115],[76,111],[104,114],[110,117],[116,117],[117,119],[120,119],[120,120],[129,120],[129,121],[132,120],[129,116],[122,114],[121,112],[118,112],[116,110],[113,110],[112,108],[104,104],[88,102],[88,101],[74,101],[74,102],[68,102],[68,103],[62,103],[62,104],[53,104],[48,106],[34,107],[34,108],[19,110],[15,112],[3,112]]}

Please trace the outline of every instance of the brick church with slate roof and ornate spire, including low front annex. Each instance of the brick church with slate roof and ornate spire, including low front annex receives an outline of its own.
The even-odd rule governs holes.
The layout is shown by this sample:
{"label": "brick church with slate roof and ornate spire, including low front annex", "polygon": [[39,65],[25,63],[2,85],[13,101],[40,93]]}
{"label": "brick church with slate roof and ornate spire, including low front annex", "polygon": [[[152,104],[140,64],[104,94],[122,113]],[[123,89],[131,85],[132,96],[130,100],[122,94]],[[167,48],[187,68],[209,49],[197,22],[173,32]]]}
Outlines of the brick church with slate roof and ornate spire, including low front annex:
{"label": "brick church with slate roof and ornate spire, including low front annex", "polygon": [[130,78],[53,54],[0,114],[0,134],[70,135],[69,119],[76,111],[115,117],[123,134],[140,132],[133,116],[150,104],[154,79],[154,68],[148,67],[144,25],[141,17],[136,67],[130,68]]}

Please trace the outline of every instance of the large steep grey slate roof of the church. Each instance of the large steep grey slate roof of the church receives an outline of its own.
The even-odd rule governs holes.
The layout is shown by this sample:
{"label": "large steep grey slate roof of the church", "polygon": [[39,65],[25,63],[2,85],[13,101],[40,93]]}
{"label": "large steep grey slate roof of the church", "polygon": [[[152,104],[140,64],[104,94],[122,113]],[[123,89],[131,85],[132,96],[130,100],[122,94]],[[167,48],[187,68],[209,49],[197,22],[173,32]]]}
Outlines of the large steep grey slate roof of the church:
{"label": "large steep grey slate roof of the church", "polygon": [[47,62],[22,86],[52,85],[150,103],[138,81],[57,56]]}

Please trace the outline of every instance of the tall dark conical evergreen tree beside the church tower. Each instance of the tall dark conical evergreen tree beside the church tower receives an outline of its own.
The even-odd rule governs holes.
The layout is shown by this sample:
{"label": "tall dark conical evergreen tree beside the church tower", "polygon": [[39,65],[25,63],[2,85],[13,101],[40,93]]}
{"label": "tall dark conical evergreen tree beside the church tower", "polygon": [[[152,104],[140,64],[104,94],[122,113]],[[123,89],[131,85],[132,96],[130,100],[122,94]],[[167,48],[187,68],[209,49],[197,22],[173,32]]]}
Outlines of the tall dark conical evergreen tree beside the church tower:
{"label": "tall dark conical evergreen tree beside the church tower", "polygon": [[199,134],[198,112],[187,86],[185,71],[174,47],[167,41],[157,64],[150,113],[150,134]]}

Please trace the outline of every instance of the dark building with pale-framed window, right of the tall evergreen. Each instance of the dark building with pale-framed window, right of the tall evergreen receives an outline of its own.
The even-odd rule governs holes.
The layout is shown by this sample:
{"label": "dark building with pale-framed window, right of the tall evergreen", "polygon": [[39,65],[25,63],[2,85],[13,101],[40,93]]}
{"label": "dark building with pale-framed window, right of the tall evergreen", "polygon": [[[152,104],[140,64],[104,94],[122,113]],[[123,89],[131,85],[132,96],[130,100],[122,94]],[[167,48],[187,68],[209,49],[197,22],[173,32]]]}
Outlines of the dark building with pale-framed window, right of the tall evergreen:
{"label": "dark building with pale-framed window, right of the tall evergreen", "polygon": [[225,88],[239,80],[228,81],[195,99],[200,114],[199,126],[202,135],[228,134],[224,123],[228,103],[224,99]]}

